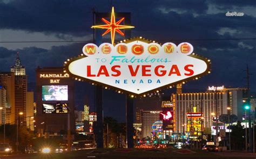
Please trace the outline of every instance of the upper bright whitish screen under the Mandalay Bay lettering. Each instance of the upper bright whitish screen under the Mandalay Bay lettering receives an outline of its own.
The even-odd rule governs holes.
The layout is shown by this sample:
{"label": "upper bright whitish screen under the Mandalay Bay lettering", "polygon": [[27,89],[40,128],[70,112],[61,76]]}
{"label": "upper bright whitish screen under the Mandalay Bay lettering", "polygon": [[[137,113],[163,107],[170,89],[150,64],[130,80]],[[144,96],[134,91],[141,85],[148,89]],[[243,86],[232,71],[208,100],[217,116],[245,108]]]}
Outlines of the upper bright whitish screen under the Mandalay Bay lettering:
{"label": "upper bright whitish screen under the Mandalay Bay lettering", "polygon": [[68,85],[43,85],[42,100],[68,100]]}

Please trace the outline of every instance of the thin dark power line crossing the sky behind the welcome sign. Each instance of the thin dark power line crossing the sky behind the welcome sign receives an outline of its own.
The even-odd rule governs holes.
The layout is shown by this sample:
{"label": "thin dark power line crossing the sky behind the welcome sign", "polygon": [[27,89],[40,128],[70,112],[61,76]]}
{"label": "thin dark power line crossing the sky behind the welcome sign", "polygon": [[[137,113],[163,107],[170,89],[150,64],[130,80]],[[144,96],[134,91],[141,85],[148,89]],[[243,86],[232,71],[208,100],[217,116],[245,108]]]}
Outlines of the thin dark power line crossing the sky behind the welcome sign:
{"label": "thin dark power line crossing the sky behind the welcome sign", "polygon": [[[226,38],[226,39],[156,39],[156,41],[211,41],[211,40],[256,40],[256,38]],[[83,41],[0,41],[0,43],[52,43],[52,42],[92,42],[91,40]]]}

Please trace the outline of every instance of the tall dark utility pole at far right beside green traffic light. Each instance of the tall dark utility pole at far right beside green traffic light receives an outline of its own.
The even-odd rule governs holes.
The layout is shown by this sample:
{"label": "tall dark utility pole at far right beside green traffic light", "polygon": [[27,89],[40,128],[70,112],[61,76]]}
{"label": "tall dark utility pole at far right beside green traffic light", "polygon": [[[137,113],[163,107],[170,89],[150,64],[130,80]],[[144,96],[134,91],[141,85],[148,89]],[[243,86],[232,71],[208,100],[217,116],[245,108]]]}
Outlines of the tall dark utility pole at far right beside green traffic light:
{"label": "tall dark utility pole at far right beside green traffic light", "polygon": [[[249,144],[250,144],[250,153],[253,153],[254,145],[253,145],[253,137],[252,137],[252,121],[251,121],[251,104],[250,104],[250,73],[248,64],[246,65],[246,79],[247,79],[247,104],[250,105],[250,109],[248,110],[248,124],[249,124]],[[253,124],[254,125],[254,124]]]}

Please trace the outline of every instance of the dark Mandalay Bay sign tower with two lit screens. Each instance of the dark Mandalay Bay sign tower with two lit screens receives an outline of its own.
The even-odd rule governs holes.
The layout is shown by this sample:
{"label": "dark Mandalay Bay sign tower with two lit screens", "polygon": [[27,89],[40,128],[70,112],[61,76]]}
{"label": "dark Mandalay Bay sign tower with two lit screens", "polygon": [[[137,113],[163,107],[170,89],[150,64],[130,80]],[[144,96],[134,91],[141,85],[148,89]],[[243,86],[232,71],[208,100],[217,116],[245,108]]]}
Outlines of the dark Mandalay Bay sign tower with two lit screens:
{"label": "dark Mandalay Bay sign tower with two lit screens", "polygon": [[75,132],[74,82],[62,67],[36,69],[36,131],[39,135]]}

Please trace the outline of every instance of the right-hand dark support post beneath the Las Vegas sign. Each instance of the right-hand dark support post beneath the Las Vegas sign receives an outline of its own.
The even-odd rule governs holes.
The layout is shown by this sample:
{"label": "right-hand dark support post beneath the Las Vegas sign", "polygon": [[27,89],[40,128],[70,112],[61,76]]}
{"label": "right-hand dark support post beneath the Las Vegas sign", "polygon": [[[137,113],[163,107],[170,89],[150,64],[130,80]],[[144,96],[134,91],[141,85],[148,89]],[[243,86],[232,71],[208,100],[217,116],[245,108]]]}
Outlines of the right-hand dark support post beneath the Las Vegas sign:
{"label": "right-hand dark support post beneath the Las Vegas sign", "polygon": [[133,148],[133,98],[126,94],[126,142],[127,148]]}

